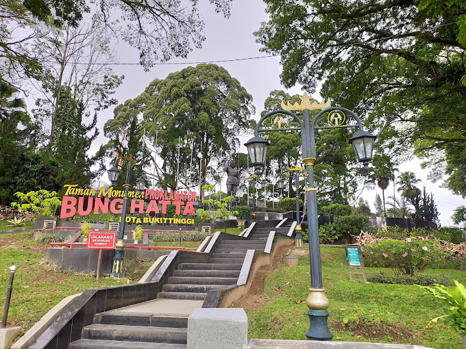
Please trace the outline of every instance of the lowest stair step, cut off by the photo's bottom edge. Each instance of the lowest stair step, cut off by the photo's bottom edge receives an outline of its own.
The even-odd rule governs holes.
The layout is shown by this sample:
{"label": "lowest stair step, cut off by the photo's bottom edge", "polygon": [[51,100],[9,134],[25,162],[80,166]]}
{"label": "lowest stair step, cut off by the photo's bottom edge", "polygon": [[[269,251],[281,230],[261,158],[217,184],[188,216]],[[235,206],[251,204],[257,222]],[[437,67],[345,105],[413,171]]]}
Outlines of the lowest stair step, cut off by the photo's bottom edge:
{"label": "lowest stair step, cut off by the photo's bottom edge", "polygon": [[73,341],[68,349],[186,349],[186,344],[150,343],[143,341],[106,341],[103,339],[79,339]]}

